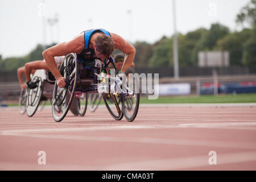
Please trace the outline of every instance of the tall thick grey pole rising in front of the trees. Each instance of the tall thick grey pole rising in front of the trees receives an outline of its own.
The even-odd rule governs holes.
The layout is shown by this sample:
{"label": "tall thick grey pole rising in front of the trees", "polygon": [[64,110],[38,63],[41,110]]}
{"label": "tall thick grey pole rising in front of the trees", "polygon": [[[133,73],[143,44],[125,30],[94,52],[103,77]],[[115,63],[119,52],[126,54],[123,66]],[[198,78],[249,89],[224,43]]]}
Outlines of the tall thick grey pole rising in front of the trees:
{"label": "tall thick grey pole rising in front of the trees", "polygon": [[179,78],[179,55],[178,55],[178,42],[176,31],[176,8],[175,0],[172,0],[173,16],[174,16],[174,78]]}

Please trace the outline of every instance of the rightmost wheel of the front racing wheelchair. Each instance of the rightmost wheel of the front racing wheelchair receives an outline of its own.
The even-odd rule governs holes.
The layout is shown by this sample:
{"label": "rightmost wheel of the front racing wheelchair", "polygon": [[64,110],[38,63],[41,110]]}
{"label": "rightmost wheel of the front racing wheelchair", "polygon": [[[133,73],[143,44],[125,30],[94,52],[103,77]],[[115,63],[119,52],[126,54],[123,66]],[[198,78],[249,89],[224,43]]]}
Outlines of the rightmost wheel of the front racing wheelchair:
{"label": "rightmost wheel of the front racing wheelchair", "polygon": [[130,93],[129,96],[123,96],[122,111],[127,121],[132,122],[137,116],[139,110],[139,80],[134,76],[134,69],[127,68],[125,79],[122,81],[123,91]]}

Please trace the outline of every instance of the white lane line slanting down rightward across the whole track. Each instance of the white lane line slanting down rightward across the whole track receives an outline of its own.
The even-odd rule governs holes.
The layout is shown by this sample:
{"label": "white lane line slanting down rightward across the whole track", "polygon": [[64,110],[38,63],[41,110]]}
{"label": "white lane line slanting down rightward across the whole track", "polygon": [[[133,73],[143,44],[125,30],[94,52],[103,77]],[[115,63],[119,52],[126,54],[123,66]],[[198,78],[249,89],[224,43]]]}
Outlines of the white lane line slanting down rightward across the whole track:
{"label": "white lane line slanting down rightward across the whole track", "polygon": [[40,134],[6,134],[9,136],[19,137],[34,137],[47,139],[70,139],[70,140],[85,140],[98,142],[126,142],[126,143],[151,143],[151,144],[175,144],[184,146],[210,146],[222,148],[244,148],[256,149],[256,143],[249,142],[232,142],[222,140],[189,140],[189,139],[170,139],[170,138],[123,138],[123,137],[96,137],[96,136],[81,136],[81,135],[40,135]]}

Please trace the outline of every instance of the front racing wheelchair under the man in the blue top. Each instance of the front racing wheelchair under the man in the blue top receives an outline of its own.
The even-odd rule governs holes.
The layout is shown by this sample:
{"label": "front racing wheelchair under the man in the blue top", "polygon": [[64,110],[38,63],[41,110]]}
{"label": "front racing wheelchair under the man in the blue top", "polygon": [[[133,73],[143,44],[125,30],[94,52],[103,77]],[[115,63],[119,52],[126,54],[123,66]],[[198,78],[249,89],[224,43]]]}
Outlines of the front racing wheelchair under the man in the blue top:
{"label": "front racing wheelchair under the man in the blue top", "polygon": [[[111,68],[110,64],[114,68],[114,74],[102,74],[108,73],[107,68]],[[61,76],[65,77],[66,85],[60,88],[55,82],[53,89],[52,115],[56,122],[65,118],[73,97],[82,93],[100,93],[110,115],[116,120],[121,120],[123,115],[129,122],[136,118],[139,109],[139,92],[135,91],[139,87],[139,82],[133,77],[132,68],[126,69],[124,77],[118,77],[111,56],[105,61],[96,59],[84,62],[76,53],[69,53],[61,63],[59,71]],[[70,97],[67,98],[68,94]],[[64,106],[63,112],[58,113],[56,106]]]}

